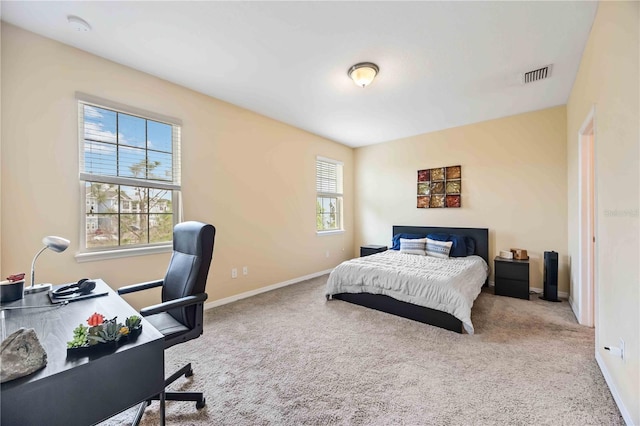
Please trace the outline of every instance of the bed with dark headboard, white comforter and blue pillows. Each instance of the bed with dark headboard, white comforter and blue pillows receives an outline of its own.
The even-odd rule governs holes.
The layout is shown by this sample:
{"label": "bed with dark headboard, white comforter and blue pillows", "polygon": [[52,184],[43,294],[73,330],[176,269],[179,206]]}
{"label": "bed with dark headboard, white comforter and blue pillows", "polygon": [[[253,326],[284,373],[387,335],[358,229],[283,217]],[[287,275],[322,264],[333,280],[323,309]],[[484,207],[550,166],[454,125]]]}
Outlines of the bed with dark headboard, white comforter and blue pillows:
{"label": "bed with dark headboard, white comforter and blue pillows", "polygon": [[[469,259],[438,259],[434,263],[435,266],[429,265],[428,268],[438,265],[446,265],[446,268],[453,271],[465,271],[459,276],[455,284],[452,286],[440,286],[428,291],[421,291],[423,296],[431,299],[420,299],[415,294],[398,293],[395,280],[406,281],[409,286],[413,285],[417,288],[415,277],[416,271],[422,266],[417,262],[430,259],[430,256],[403,255],[399,256],[394,251],[383,252],[366,258],[356,258],[338,265],[329,276],[327,281],[326,297],[327,299],[339,299],[357,305],[398,315],[414,321],[425,324],[434,325],[447,330],[462,333],[473,334],[473,325],[471,324],[471,306],[473,300],[480,292],[480,287],[487,285],[488,280],[488,264],[489,264],[489,230],[486,228],[444,228],[429,226],[393,226],[393,235],[397,234],[455,234],[473,239],[475,242],[475,255],[468,256]],[[400,264],[395,264],[395,259],[400,259]],[[447,262],[451,260],[451,262]],[[469,272],[463,263],[475,264],[473,272]],[[478,264],[484,264],[479,268]],[[427,266],[425,266],[427,267]],[[484,273],[480,272],[484,269]],[[362,274],[362,275],[360,275]],[[431,272],[431,275],[438,274],[437,271]],[[478,275],[480,274],[480,275]],[[465,281],[469,282],[470,287],[465,287]],[[451,287],[452,294],[444,296],[450,299],[465,299],[466,302],[458,308],[443,303],[442,300],[435,300],[434,297],[443,297],[443,287]],[[409,287],[411,288],[411,287]],[[463,295],[456,293],[461,290]],[[448,290],[447,290],[448,291]],[[411,292],[411,291],[410,291]],[[386,293],[386,294],[385,294]],[[399,300],[404,299],[404,300]],[[427,306],[430,305],[431,307]],[[448,312],[447,312],[448,311]]]}

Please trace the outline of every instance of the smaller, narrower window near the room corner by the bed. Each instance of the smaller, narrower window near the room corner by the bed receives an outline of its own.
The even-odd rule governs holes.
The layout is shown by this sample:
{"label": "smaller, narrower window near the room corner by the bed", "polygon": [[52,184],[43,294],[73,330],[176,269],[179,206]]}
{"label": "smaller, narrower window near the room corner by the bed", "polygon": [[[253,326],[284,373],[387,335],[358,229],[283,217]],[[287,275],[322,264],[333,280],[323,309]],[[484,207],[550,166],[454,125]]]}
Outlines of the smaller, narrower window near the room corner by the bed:
{"label": "smaller, narrower window near the room corner by the bed", "polygon": [[316,159],[316,230],[342,230],[342,163]]}

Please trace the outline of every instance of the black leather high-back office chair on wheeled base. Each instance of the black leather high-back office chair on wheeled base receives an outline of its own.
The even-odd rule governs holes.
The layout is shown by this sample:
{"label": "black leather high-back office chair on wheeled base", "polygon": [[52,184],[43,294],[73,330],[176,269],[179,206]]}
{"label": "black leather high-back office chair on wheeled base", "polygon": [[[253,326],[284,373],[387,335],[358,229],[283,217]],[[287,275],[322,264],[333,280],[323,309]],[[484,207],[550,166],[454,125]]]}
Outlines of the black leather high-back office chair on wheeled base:
{"label": "black leather high-back office chair on wheeled base", "polygon": [[[202,334],[204,301],[207,300],[205,286],[213,256],[216,229],[201,222],[179,223],[173,229],[173,254],[163,280],[149,281],[122,287],[118,294],[162,286],[162,303],[140,311],[158,331],[164,335],[165,349],[173,345],[197,339]],[[193,375],[191,363],[165,379],[165,388],[180,376]],[[160,401],[161,418],[164,418],[164,400],[195,401],[196,408],[205,406],[202,393],[165,392],[142,403],[134,420],[137,425],[151,400]]]}

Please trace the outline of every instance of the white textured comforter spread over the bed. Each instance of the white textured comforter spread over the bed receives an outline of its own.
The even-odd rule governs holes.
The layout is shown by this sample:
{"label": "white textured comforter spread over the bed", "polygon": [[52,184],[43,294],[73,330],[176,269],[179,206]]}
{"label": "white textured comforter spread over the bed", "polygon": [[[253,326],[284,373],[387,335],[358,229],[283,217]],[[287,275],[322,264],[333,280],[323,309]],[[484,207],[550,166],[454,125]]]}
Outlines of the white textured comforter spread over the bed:
{"label": "white textured comforter spread over the bed", "polygon": [[489,267],[480,256],[439,259],[388,250],[336,266],[329,275],[326,295],[385,294],[447,312],[473,334],[471,306],[488,273]]}

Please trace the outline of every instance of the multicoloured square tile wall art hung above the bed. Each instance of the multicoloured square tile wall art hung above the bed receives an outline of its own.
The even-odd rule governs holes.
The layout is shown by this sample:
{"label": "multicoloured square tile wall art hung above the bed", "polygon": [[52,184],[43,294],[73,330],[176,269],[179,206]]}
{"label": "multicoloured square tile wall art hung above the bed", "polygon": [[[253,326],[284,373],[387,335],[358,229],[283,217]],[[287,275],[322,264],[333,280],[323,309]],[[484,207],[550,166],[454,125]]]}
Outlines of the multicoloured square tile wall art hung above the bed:
{"label": "multicoloured square tile wall art hung above the bed", "polygon": [[418,170],[418,208],[460,207],[462,166]]}

